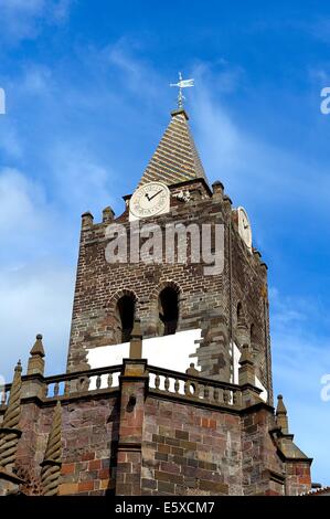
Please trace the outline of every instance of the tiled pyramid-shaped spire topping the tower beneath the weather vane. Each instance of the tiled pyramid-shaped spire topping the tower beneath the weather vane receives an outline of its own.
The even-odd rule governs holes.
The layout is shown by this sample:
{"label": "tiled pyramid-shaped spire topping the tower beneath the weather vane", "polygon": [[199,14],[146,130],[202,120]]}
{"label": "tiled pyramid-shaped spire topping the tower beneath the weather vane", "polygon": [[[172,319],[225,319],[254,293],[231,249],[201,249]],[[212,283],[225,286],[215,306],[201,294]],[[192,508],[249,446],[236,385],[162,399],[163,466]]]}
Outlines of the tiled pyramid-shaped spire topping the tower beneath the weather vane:
{"label": "tiled pyramid-shaped spire topping the tower beneath the weather vane", "polygon": [[207,182],[201,159],[190,133],[184,109],[172,112],[167,127],[140,184],[158,181],[168,186],[193,179]]}

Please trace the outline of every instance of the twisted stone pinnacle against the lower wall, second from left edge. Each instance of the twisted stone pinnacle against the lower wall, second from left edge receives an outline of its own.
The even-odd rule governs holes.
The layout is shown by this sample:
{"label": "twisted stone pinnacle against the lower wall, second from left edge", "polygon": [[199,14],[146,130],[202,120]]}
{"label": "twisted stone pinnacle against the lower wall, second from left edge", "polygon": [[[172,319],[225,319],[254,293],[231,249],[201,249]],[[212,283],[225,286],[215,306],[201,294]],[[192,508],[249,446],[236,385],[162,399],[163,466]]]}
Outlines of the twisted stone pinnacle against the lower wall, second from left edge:
{"label": "twisted stone pinnacle against the lower wall, second from left edge", "polygon": [[62,409],[57,401],[52,428],[49,435],[44,460],[41,466],[41,483],[43,496],[55,496],[58,491],[62,457]]}

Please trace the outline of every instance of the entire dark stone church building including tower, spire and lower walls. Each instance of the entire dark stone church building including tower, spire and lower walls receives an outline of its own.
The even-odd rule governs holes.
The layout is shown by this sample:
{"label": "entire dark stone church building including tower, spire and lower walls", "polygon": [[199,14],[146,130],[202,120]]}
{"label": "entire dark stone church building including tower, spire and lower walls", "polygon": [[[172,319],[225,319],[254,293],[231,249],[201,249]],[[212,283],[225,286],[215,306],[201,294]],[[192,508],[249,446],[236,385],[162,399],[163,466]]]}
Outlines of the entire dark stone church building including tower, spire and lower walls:
{"label": "entire dark stone church building including tower, spire and lower walls", "polygon": [[42,336],[0,406],[0,494],[300,495],[311,458],[274,409],[267,266],[210,187],[183,108],[125,211],[82,216],[67,370]]}

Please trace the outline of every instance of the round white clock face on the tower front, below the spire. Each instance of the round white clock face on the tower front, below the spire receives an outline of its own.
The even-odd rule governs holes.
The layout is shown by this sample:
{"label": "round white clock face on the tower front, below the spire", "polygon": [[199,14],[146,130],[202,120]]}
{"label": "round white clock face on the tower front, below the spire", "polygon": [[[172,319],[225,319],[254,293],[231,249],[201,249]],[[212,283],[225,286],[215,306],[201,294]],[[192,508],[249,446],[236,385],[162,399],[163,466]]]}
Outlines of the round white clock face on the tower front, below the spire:
{"label": "round white clock face on the tower front, below the spire", "polygon": [[155,216],[170,210],[170,191],[161,182],[149,182],[132,194],[129,202],[130,220]]}

